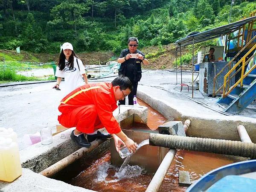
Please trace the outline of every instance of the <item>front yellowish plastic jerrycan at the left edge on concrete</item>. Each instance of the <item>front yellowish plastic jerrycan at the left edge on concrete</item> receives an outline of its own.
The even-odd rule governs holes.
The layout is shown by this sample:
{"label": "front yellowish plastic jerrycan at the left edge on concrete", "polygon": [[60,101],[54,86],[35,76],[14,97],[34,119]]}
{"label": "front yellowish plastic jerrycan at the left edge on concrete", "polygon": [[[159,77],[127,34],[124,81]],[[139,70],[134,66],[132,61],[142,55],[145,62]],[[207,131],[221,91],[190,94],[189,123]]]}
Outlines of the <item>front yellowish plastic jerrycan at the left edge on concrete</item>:
{"label": "front yellowish plastic jerrycan at the left edge on concrete", "polygon": [[22,174],[17,142],[0,136],[0,180],[12,182]]}

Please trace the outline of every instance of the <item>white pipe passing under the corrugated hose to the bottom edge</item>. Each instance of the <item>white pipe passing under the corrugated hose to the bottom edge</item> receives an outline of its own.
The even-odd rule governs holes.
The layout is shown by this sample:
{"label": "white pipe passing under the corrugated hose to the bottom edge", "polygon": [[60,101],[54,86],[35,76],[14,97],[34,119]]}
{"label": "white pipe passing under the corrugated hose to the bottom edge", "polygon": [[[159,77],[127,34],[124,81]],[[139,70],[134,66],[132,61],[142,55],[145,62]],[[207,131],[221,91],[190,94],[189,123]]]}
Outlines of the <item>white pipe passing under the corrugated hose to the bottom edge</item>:
{"label": "white pipe passing under the corrugated hose to the bottom edge", "polygon": [[[191,121],[189,119],[186,119],[184,122],[184,130],[185,133],[189,128]],[[157,169],[157,172],[155,173],[154,177],[152,178],[151,182],[148,185],[148,188],[146,189],[146,192],[157,192],[158,189],[160,188],[163,179],[172,163],[173,158],[175,157],[176,150],[175,149],[170,149],[166,156],[163,158],[162,163]]]}

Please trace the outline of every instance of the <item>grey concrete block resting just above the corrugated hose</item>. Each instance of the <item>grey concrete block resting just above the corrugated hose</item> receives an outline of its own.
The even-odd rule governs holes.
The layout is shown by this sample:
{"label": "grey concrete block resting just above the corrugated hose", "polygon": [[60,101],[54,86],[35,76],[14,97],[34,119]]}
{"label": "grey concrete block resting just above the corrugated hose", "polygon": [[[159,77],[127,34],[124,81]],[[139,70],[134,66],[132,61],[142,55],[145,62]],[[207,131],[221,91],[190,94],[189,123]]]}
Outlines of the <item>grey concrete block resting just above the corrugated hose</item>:
{"label": "grey concrete block resting just above the corrugated hose", "polygon": [[160,134],[186,136],[183,123],[181,121],[168,121],[158,127]]}

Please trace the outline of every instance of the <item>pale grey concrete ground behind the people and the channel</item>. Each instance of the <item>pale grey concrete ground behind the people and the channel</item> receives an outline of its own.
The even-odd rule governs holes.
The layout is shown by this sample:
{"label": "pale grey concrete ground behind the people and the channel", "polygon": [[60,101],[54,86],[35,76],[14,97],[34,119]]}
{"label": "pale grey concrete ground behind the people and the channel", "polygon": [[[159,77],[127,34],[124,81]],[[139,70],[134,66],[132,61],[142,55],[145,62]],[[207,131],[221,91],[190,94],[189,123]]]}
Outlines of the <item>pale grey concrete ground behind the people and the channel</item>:
{"label": "pale grey concrete ground behind the people and the channel", "polygon": [[[195,77],[196,75],[197,73]],[[183,83],[191,82],[191,76],[191,73],[184,72]],[[89,82],[112,81],[114,78],[89,79]],[[169,105],[171,111],[169,109],[164,111],[163,108],[161,109],[163,111],[160,111],[166,118],[168,116],[211,116],[213,119],[226,117],[221,114],[222,109],[215,104],[215,98],[202,96],[198,90],[195,90],[195,98],[191,99],[191,90],[188,92],[186,88],[180,93],[180,73],[177,79],[176,84],[176,73],[168,70],[144,70],[138,85],[138,96],[149,104],[150,99],[155,99]],[[0,87],[0,127],[13,128],[17,132],[20,149],[27,147],[23,143],[24,134],[35,134],[45,126],[50,127],[52,132],[56,131],[58,105],[64,97],[65,82],[61,82],[61,91],[52,89],[54,84],[55,82],[47,82]],[[255,102],[239,116],[245,119],[248,117],[249,121],[251,118],[255,120]]]}

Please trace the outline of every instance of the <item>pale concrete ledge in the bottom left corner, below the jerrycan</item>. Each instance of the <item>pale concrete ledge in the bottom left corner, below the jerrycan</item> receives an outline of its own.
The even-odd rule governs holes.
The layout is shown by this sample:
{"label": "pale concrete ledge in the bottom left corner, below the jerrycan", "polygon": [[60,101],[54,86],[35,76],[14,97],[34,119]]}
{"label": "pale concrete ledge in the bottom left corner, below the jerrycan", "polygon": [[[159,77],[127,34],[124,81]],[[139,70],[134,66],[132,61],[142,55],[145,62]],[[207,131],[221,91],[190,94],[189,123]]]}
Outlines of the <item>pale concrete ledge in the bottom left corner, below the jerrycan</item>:
{"label": "pale concrete ledge in the bottom left corner, below the jerrycan", "polygon": [[50,179],[43,175],[22,169],[22,175],[14,182],[0,181],[0,192],[94,192],[93,190],[73,186],[63,181]]}

